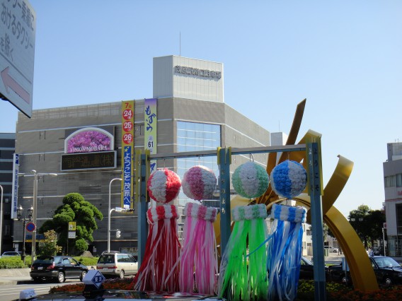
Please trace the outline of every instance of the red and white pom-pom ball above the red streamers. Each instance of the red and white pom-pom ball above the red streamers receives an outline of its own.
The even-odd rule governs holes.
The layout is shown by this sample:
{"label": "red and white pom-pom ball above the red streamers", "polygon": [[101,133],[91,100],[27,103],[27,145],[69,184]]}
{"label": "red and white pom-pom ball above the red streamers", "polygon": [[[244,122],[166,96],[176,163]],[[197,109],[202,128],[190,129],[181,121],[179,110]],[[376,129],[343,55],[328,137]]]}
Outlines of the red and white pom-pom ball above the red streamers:
{"label": "red and white pom-pom ball above the red streamers", "polygon": [[180,187],[180,177],[167,168],[156,170],[147,182],[149,197],[159,203],[168,203],[176,199]]}

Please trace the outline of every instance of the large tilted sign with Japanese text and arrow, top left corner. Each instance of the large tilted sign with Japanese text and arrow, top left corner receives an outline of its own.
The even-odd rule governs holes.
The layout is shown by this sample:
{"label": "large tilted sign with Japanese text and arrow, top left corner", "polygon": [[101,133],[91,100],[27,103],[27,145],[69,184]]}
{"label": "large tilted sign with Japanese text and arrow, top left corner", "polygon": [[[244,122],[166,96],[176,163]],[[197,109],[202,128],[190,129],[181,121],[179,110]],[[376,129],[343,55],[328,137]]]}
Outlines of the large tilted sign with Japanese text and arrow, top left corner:
{"label": "large tilted sign with Japanese text and arrow, top left corner", "polygon": [[36,15],[27,0],[2,0],[0,97],[32,115]]}

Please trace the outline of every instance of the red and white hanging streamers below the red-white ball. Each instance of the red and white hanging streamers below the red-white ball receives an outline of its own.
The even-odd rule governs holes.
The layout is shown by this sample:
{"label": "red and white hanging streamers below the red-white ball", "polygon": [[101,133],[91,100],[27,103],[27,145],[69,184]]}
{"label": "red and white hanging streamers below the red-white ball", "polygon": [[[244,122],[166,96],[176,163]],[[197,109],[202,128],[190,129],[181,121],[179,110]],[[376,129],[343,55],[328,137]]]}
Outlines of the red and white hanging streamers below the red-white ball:
{"label": "red and white hanging streamers below the red-white ball", "polygon": [[177,292],[180,255],[176,206],[163,205],[147,211],[149,233],[144,260],[134,278],[134,290]]}

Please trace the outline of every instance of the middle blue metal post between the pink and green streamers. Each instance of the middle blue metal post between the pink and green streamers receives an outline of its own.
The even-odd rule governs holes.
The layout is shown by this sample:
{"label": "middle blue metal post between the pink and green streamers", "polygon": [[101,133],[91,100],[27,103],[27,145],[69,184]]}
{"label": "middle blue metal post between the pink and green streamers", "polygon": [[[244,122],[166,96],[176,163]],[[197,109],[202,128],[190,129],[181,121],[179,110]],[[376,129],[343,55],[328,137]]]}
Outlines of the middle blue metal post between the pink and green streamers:
{"label": "middle blue metal post between the pink and green streamers", "polygon": [[220,189],[220,210],[221,210],[221,256],[224,253],[231,232],[230,213],[230,163],[231,148],[218,149],[219,165],[219,189]]}

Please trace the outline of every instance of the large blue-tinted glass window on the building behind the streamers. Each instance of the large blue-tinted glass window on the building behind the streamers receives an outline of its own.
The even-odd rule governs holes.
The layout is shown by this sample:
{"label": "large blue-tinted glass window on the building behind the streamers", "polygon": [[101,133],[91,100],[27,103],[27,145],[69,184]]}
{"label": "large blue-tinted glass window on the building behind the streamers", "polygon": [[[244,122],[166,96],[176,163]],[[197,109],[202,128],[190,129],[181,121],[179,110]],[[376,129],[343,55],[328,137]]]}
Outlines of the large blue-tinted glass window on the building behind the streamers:
{"label": "large blue-tinted glass window on the building behind the streamers", "polygon": [[[217,124],[202,124],[196,122],[177,122],[177,151],[210,151],[221,146],[221,126]],[[215,176],[219,176],[217,156],[200,158],[177,159],[177,174],[183,179],[184,173],[195,165],[203,165],[212,170]],[[180,191],[178,205],[185,206],[189,201]],[[207,205],[207,204],[205,204]]]}

